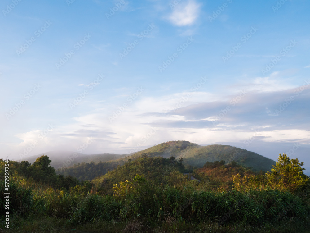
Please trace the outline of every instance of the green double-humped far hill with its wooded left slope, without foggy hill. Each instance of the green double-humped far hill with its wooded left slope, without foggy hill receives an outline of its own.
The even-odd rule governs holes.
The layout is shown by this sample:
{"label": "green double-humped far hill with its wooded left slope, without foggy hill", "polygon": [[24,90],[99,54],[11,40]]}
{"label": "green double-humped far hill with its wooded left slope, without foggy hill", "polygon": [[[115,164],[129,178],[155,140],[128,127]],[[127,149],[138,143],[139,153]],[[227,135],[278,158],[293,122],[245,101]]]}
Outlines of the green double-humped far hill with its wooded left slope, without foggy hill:
{"label": "green double-humped far hill with its wooded left slope, without foggy hill", "polygon": [[[244,167],[251,167],[251,169],[256,172],[260,170],[269,171],[272,165],[275,165],[275,161],[271,159],[232,146],[199,146],[188,141],[170,141],[136,152],[131,156],[125,156],[125,158],[123,155],[105,155],[105,157],[102,157],[104,162],[82,162],[74,164],[72,167],[57,169],[56,172],[60,175],[76,177],[78,180],[93,180],[96,177],[104,176],[118,165],[122,166],[126,164],[128,167],[130,164],[129,161],[144,157],[163,157],[169,158],[174,162],[180,162],[181,160],[181,167],[179,167],[180,172],[193,172],[194,169],[203,167],[204,164],[206,165],[208,162],[212,163],[214,161],[238,163]],[[96,161],[98,161],[99,158],[100,157],[98,157]],[[127,159],[128,161],[126,162]],[[221,163],[221,165],[224,166],[223,163]],[[215,167],[217,167],[217,165],[215,165]]]}

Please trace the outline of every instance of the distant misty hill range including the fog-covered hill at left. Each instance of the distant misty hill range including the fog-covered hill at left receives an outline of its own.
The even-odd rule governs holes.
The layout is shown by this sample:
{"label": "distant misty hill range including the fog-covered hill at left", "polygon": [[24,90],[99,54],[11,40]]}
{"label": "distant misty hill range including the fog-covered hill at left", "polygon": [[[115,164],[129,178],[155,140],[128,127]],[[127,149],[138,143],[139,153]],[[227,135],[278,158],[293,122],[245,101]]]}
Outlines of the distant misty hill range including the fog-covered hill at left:
{"label": "distant misty hill range including the fog-covered hill at left", "polygon": [[[184,158],[184,165],[187,169],[201,168],[206,162],[214,162],[224,160],[226,164],[236,161],[244,167],[250,167],[252,171],[269,171],[272,165],[276,162],[272,159],[263,157],[251,151],[240,149],[237,147],[226,145],[208,145],[200,146],[188,141],[169,141],[161,143],[148,149],[136,152],[132,155],[119,155],[119,154],[91,154],[85,155],[71,151],[50,151],[36,156],[31,156],[28,159],[33,163],[41,155],[47,155],[51,159],[51,166],[55,169],[61,167],[57,174],[65,176],[71,175],[80,180],[92,180],[95,177],[102,176],[108,171],[115,169],[118,165],[122,166],[128,159],[134,161],[138,158],[154,158],[163,157],[170,158],[171,156],[176,159]],[[64,168],[65,162],[69,159],[74,160]],[[100,162],[101,161],[101,162]],[[73,166],[76,164],[75,166]]]}

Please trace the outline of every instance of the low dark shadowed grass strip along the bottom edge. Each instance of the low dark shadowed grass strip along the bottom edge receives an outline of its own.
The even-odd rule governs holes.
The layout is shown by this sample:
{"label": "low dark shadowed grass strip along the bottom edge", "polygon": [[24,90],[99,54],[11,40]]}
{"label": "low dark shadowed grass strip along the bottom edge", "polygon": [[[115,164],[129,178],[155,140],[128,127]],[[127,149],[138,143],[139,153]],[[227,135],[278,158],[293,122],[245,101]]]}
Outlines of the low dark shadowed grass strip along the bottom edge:
{"label": "low dark shadowed grass strip along the bottom edge", "polygon": [[117,222],[95,219],[95,221],[70,226],[64,219],[54,217],[38,217],[30,215],[24,218],[11,219],[10,229],[4,229],[1,224],[0,232],[20,233],[65,233],[65,232],[88,232],[88,233],[129,233],[129,232],[232,232],[232,233],[264,233],[264,232],[310,232],[310,216],[305,220],[299,218],[284,218],[280,221],[266,221],[262,225],[244,225],[242,223],[229,223],[218,225],[215,222],[206,221],[195,224],[193,222],[178,222],[173,217],[167,216],[164,221],[154,221],[153,218],[139,219],[134,221]]}

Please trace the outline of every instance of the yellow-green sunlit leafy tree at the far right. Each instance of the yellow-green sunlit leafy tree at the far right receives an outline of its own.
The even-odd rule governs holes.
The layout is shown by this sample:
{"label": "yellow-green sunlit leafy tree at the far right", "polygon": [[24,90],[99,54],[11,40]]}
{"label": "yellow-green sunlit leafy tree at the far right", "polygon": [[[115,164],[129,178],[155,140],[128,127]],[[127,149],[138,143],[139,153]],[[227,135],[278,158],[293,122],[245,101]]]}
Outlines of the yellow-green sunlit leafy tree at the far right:
{"label": "yellow-green sunlit leafy tree at the far right", "polygon": [[305,162],[299,163],[297,158],[290,159],[286,154],[279,154],[278,162],[266,175],[268,183],[276,188],[286,189],[296,193],[309,181],[309,176],[303,174]]}

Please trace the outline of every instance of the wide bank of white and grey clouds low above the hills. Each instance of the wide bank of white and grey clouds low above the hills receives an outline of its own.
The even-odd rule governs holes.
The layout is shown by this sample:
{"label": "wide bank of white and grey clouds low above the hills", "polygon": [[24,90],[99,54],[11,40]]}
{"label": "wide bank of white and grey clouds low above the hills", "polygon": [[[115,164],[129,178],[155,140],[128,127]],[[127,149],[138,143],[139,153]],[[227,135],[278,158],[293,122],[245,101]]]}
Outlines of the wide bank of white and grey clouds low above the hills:
{"label": "wide bank of white and grey clouds low above the hills", "polygon": [[[44,129],[15,133],[14,136],[19,140],[16,143],[2,144],[2,147],[5,147],[3,154],[11,153],[12,156],[18,156],[29,147],[29,144],[33,144],[34,140],[39,144],[29,152],[29,155],[59,149],[76,151],[76,148],[85,143],[89,137],[94,142],[84,151],[86,154],[129,153],[131,147],[135,147],[138,143],[141,144],[138,149],[144,149],[170,140],[188,140],[197,144],[237,142],[251,137],[256,128],[260,131],[260,135],[265,137],[260,140],[262,142],[298,140],[310,144],[309,131],[304,130],[303,124],[298,123],[302,122],[300,119],[308,114],[308,110],[302,108],[300,113],[296,112],[298,106],[303,106],[306,101],[302,95],[280,114],[279,117],[282,118],[270,117],[274,109],[291,95],[292,88],[290,80],[257,77],[251,83],[224,85],[223,93],[196,91],[162,96],[141,95],[112,123],[108,117],[119,109],[118,106],[121,106],[122,101],[107,104],[100,100],[95,102],[96,107],[91,111],[74,117],[65,125],[57,126],[44,139],[38,137]],[[190,86],[187,89],[190,89]],[[246,97],[214,126],[210,121],[216,120],[215,116],[228,106],[229,100],[235,98],[241,89],[248,90]],[[126,91],[126,88],[116,90],[117,94]],[[188,94],[192,97],[181,102]],[[303,94],[306,94],[306,90]],[[124,102],[126,103],[125,97]],[[182,103],[181,107],[172,112],[178,103]],[[292,116],[301,117],[290,120],[292,112],[294,113]],[[265,118],[260,119],[261,117]],[[278,126],[275,117],[282,122],[281,126]],[[291,124],[287,123],[290,121],[295,121],[296,124],[290,126]],[[144,143],[142,138],[149,134],[152,127],[156,127],[156,134],[152,134],[152,137]]]}

